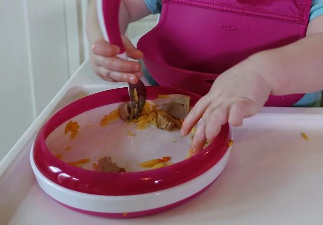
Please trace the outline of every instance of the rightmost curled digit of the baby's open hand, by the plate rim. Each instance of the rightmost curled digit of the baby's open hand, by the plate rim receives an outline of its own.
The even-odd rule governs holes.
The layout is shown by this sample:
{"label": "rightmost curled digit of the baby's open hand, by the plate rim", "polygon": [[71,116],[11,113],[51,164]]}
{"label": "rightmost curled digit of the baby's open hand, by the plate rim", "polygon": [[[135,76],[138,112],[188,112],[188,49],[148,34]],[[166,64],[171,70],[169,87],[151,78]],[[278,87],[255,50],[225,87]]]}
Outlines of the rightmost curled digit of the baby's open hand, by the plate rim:
{"label": "rightmost curled digit of the baby's open hand, by the plate rim", "polygon": [[228,122],[234,127],[240,127],[244,118],[252,117],[258,113],[256,105],[249,100],[234,102],[229,110]]}

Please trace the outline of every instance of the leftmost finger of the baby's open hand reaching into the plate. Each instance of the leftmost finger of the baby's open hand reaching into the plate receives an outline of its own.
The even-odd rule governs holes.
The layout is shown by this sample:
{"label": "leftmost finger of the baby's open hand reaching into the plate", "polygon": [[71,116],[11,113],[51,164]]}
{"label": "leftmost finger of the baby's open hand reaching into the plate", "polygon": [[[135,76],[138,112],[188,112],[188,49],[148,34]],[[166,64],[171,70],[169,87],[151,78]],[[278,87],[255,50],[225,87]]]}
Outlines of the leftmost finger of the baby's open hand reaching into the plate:
{"label": "leftmost finger of the baby's open hand reaching into the plate", "polygon": [[186,136],[191,132],[192,128],[202,117],[202,115],[204,114],[205,110],[210,105],[210,103],[211,101],[209,100],[208,96],[205,95],[195,104],[195,106],[192,108],[192,110],[184,120],[182,129],[181,129],[181,133],[183,136]]}

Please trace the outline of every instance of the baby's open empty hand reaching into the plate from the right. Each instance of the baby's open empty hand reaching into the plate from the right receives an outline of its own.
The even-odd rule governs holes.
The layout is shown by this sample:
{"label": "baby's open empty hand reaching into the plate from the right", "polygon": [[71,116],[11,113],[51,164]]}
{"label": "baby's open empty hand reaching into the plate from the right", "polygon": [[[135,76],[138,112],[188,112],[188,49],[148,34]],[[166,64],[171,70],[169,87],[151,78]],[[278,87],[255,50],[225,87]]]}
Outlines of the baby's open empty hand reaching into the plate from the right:
{"label": "baby's open empty hand reaching into the plate from the right", "polygon": [[212,141],[222,125],[241,126],[244,118],[255,115],[264,105],[271,90],[255,63],[250,58],[221,74],[192,108],[181,132],[188,135],[202,118],[191,146],[195,152],[203,149],[206,140]]}

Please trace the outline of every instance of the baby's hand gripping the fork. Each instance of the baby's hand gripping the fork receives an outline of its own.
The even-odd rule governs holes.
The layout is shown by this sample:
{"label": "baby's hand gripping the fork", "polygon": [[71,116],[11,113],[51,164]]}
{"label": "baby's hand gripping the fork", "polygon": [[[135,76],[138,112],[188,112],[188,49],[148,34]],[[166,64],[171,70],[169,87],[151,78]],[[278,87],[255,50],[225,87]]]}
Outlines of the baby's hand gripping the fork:
{"label": "baby's hand gripping the fork", "polygon": [[[130,40],[123,36],[123,43],[128,57],[139,60],[143,53],[135,48]],[[107,43],[104,39],[97,40],[90,53],[90,61],[96,75],[110,82],[127,82],[136,84],[142,77],[140,64],[118,58],[120,48]]]}

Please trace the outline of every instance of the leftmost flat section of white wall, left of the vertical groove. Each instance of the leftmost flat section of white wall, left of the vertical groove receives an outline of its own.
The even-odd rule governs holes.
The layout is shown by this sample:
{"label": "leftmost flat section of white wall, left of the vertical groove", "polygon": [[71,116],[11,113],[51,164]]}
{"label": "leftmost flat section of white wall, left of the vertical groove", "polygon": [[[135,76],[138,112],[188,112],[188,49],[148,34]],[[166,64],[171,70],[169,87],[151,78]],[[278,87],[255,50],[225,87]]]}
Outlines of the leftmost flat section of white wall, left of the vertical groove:
{"label": "leftmost flat section of white wall, left of the vertical groove", "polygon": [[22,0],[0,1],[0,159],[35,118]]}

